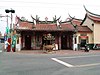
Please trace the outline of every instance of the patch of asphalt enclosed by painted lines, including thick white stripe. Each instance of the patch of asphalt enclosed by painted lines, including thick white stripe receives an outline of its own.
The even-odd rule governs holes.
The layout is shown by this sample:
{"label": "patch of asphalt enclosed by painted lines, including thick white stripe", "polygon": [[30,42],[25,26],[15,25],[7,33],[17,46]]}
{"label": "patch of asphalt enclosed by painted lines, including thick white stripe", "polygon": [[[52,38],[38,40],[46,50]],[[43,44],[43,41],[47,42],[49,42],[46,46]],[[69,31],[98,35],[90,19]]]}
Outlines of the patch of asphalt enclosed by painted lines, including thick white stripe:
{"label": "patch of asphalt enclosed by painted lines, including thick white stripe", "polygon": [[100,55],[80,55],[70,57],[56,57],[52,60],[66,66],[66,67],[88,67],[100,65]]}

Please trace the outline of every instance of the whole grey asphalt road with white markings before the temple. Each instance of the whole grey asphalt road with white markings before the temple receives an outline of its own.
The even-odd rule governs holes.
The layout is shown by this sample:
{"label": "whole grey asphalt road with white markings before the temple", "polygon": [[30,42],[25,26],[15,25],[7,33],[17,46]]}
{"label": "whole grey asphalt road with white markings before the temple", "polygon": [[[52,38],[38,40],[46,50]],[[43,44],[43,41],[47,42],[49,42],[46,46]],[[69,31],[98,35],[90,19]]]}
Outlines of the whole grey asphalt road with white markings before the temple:
{"label": "whole grey asphalt road with white markings before the temple", "polygon": [[100,55],[0,53],[0,75],[99,75]]}

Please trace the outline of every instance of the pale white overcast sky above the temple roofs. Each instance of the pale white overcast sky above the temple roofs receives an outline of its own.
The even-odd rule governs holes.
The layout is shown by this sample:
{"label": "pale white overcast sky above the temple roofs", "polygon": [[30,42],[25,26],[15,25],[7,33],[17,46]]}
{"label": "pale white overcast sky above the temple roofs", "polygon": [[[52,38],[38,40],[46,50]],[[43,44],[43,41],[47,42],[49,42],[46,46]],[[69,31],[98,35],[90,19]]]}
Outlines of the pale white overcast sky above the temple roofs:
{"label": "pale white overcast sky above the temple roofs", "polygon": [[[25,17],[29,21],[32,21],[31,15],[35,17],[38,15],[40,20],[53,20],[53,17],[61,16],[61,20],[65,21],[70,14],[72,17],[78,19],[84,19],[85,17],[85,7],[95,13],[100,15],[100,1],[99,0],[0,0],[0,15],[9,15],[10,13],[5,13],[5,9],[14,9],[13,23],[15,21],[15,16]],[[5,33],[5,28],[7,26],[7,18],[0,18],[0,31],[2,34]],[[9,18],[10,25],[10,18]]]}

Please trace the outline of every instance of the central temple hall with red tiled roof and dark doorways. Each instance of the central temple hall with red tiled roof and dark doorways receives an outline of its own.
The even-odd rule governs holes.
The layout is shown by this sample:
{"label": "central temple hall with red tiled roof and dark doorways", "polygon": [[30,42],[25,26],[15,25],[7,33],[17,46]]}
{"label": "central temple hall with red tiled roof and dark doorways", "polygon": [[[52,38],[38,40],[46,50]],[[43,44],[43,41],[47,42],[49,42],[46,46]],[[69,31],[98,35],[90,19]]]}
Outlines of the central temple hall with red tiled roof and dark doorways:
{"label": "central temple hall with red tiled roof and dark doorways", "polygon": [[[37,50],[42,49],[45,44],[57,45],[57,49],[73,49],[73,35],[75,27],[70,21],[61,22],[60,17],[53,21],[40,21],[38,18],[33,18],[33,22],[24,21],[18,18],[15,30],[17,35],[17,46],[20,50]],[[52,36],[52,42],[46,41],[46,36]]]}

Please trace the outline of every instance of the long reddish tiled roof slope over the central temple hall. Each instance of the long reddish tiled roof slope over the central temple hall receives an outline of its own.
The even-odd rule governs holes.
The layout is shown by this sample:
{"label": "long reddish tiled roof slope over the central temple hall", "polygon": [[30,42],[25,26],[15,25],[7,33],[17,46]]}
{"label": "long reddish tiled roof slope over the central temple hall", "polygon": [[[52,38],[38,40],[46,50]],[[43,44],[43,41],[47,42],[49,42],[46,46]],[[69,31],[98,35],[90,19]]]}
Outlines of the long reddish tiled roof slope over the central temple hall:
{"label": "long reddish tiled roof slope over the central temple hall", "polygon": [[[33,28],[34,26],[34,28]],[[36,24],[33,25],[29,22],[19,22],[19,26],[16,29],[20,30],[38,30],[38,31],[74,31],[75,28],[69,23],[62,23],[57,26],[56,23],[52,24]]]}

